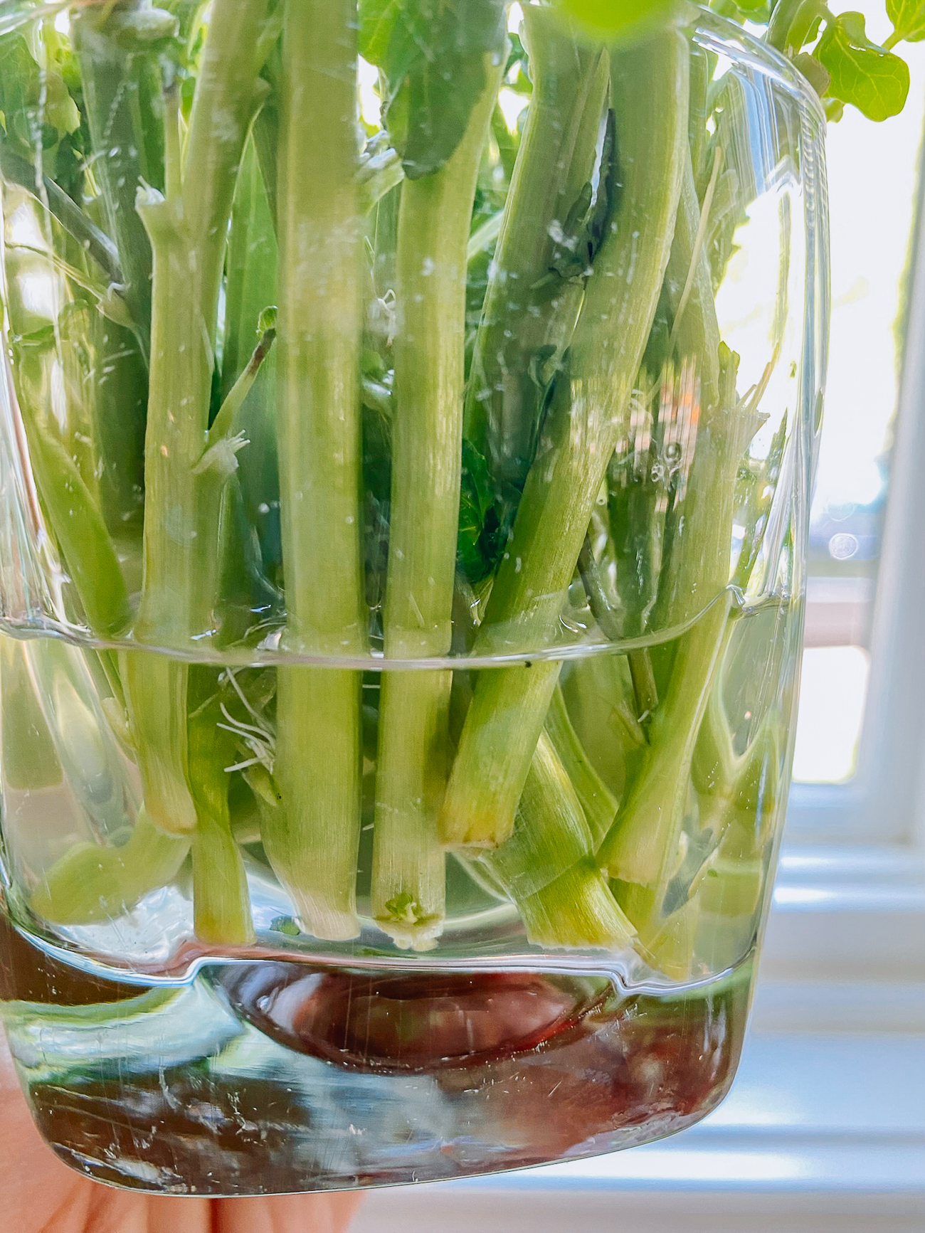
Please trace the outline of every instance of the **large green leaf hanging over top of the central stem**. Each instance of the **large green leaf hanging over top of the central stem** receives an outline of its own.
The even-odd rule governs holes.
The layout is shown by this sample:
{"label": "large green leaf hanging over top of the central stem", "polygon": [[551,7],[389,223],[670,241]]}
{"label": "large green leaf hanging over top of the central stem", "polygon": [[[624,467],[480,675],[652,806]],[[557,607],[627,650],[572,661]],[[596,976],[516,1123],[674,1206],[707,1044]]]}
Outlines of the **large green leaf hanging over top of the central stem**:
{"label": "large green leaf hanging over top of the central stem", "polygon": [[448,162],[504,38],[503,0],[363,0],[360,54],[386,78],[386,126],[409,180]]}

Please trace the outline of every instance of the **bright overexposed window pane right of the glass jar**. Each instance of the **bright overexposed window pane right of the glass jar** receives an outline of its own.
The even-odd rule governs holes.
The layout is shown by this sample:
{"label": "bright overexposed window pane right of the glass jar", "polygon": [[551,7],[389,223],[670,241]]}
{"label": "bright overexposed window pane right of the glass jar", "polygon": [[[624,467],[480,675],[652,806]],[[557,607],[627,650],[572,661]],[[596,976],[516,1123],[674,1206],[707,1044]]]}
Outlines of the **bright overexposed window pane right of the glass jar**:
{"label": "bright overexposed window pane right of the glass jar", "polygon": [[[876,17],[872,11],[874,30]],[[916,160],[910,155],[925,115],[925,52],[916,44],[906,52],[911,89],[903,115],[872,125],[847,109],[830,127],[826,143],[831,355],[810,525],[794,758],[794,779],[807,783],[852,777],[865,715],[918,197]]]}

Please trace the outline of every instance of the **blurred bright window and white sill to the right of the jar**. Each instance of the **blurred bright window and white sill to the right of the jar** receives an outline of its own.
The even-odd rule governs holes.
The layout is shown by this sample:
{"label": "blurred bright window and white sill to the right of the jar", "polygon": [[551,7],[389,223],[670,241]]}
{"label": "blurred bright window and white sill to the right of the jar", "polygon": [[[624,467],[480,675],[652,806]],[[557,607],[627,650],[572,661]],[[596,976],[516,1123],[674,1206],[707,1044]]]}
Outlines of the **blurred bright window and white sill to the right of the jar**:
{"label": "blurred bright window and white sill to the right of the jar", "polygon": [[[858,5],[872,39],[883,0]],[[368,1197],[354,1233],[925,1228],[925,42],[829,127],[831,349],[794,788],[733,1091],[661,1144]]]}

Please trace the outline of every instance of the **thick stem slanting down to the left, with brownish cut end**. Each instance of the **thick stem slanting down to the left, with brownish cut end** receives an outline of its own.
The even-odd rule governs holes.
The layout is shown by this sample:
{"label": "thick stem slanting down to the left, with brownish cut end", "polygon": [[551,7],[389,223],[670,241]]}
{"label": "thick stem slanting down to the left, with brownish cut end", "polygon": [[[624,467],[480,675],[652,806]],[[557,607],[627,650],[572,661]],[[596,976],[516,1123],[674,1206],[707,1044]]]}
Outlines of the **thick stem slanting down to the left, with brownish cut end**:
{"label": "thick stem slanting down to the left, with brownish cut end", "polygon": [[[476,640],[480,653],[555,641],[655,314],[687,145],[687,44],[675,31],[612,59],[623,194],[585,295],[511,543]],[[444,842],[507,838],[559,676],[557,663],[483,672],[440,814]]]}

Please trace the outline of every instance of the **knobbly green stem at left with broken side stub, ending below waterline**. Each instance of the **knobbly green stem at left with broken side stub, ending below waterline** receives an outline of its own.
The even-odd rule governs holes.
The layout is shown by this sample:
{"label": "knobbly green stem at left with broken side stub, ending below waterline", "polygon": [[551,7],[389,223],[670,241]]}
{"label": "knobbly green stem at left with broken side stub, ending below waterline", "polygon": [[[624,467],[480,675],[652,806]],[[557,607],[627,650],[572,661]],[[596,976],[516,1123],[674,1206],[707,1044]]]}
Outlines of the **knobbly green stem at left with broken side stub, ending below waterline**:
{"label": "knobbly green stem at left with broken side stub, ending below waterline", "polygon": [[[150,383],[144,446],[144,584],[136,637],[189,645],[215,634],[218,559],[206,448],[218,292],[238,166],[257,91],[266,0],[217,0],[196,83],[184,165],[168,96],[165,197],[139,196],[153,252]],[[144,801],[164,830],[189,832],[186,668],[166,656],[126,662]]]}

